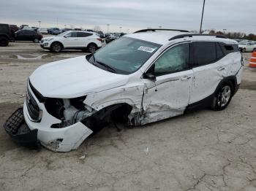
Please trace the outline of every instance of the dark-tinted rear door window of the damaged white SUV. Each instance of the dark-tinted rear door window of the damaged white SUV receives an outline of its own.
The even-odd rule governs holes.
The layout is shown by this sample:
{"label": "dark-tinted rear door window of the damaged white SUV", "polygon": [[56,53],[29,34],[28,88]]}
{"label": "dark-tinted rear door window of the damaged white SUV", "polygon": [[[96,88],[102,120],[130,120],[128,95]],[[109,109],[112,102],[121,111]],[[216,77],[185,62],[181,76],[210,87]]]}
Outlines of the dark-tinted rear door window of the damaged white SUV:
{"label": "dark-tinted rear door window of the damaged white SUV", "polygon": [[216,61],[215,42],[192,42],[192,62],[202,66]]}

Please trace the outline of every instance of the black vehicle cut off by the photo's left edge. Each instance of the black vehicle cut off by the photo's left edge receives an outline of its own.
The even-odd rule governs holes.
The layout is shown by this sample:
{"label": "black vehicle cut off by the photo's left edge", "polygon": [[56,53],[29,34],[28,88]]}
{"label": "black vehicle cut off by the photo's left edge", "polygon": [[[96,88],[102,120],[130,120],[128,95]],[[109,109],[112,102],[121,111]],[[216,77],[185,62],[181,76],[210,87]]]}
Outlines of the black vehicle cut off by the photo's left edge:
{"label": "black vehicle cut off by the photo's left edge", "polygon": [[9,42],[12,42],[14,37],[10,26],[7,24],[0,23],[0,47],[7,47]]}

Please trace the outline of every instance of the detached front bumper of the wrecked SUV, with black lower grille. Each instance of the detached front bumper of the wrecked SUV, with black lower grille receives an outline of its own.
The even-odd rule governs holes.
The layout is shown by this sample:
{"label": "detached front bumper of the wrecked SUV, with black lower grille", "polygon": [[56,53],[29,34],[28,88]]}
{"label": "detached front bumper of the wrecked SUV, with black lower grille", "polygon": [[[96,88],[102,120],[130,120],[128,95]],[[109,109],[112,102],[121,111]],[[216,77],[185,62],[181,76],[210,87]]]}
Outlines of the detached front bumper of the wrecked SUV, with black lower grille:
{"label": "detached front bumper of the wrecked SUV, with black lower grille", "polygon": [[[20,144],[24,143],[23,145],[26,147],[36,148],[37,144],[40,143],[55,152],[69,152],[78,149],[80,144],[93,133],[82,122],[76,122],[64,128],[52,128],[53,124],[59,124],[61,120],[48,113],[45,105],[38,101],[29,85],[28,91],[29,95],[36,101],[41,114],[39,120],[33,120],[29,115],[28,104],[26,103],[28,99],[26,99],[23,110],[18,110],[18,116],[21,115],[21,117],[17,117],[16,111],[10,117],[11,120],[8,119],[4,125],[4,129],[14,141],[18,141]],[[31,101],[31,98],[29,100]],[[13,119],[16,118],[19,119],[18,122],[13,122]],[[25,128],[21,128],[22,126]],[[26,133],[22,133],[23,129],[26,130]]]}

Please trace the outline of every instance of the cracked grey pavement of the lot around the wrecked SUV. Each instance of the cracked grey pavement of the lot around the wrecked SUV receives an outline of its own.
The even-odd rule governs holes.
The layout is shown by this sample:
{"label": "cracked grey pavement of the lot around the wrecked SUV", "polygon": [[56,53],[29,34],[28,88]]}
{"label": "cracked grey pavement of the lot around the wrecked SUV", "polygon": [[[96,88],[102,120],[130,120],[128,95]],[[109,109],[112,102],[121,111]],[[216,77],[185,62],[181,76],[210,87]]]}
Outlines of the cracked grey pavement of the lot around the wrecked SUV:
{"label": "cracked grey pavement of the lot around the wrecked SUV", "polygon": [[[53,56],[35,44],[0,49],[0,125],[22,104],[26,78]],[[20,48],[24,48],[23,52]],[[23,57],[48,54],[42,59]],[[249,53],[245,54],[248,61]],[[20,74],[20,75],[19,75]],[[208,109],[137,128],[114,125],[68,153],[14,144],[0,129],[1,190],[256,190],[256,69],[222,112]]]}

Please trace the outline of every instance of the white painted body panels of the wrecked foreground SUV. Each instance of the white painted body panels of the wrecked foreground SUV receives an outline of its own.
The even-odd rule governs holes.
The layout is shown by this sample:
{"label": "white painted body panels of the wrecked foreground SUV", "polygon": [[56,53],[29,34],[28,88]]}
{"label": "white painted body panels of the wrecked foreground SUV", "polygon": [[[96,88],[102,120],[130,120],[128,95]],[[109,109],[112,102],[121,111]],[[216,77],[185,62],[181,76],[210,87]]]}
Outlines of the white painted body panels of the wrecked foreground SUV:
{"label": "white painted body panels of the wrecked foreground SUV", "polygon": [[[113,74],[97,68],[86,61],[85,56],[80,56],[40,66],[29,79],[43,96],[65,99],[65,108],[69,109],[64,112],[64,116],[68,118],[66,120],[72,119],[72,114],[76,112],[75,108],[69,106],[68,99],[86,95],[83,101],[86,104],[86,116],[107,106],[125,103],[132,106],[132,112],[129,114],[129,122],[132,125],[145,125],[183,114],[188,104],[193,104],[214,93],[224,77],[236,75],[237,82],[240,84],[242,74],[240,52],[229,54],[220,61],[206,66],[159,76],[155,82],[143,79],[143,73],[149,69],[159,55],[162,55],[165,48],[173,43],[197,39],[235,43],[230,39],[207,36],[186,37],[169,42],[168,39],[172,37],[170,34],[181,33],[164,32],[161,34],[157,32],[127,35],[148,41],[152,39],[153,42],[159,43],[165,40],[165,44],[133,74]],[[31,94],[35,98],[34,94]],[[37,98],[35,99],[37,101]],[[67,152],[77,149],[92,133],[81,122],[65,128],[50,128],[51,125],[61,121],[48,114],[44,104],[38,101],[37,104],[42,110],[40,122],[33,122],[29,119],[26,102],[24,116],[29,128],[38,129],[38,139],[45,147]]]}

